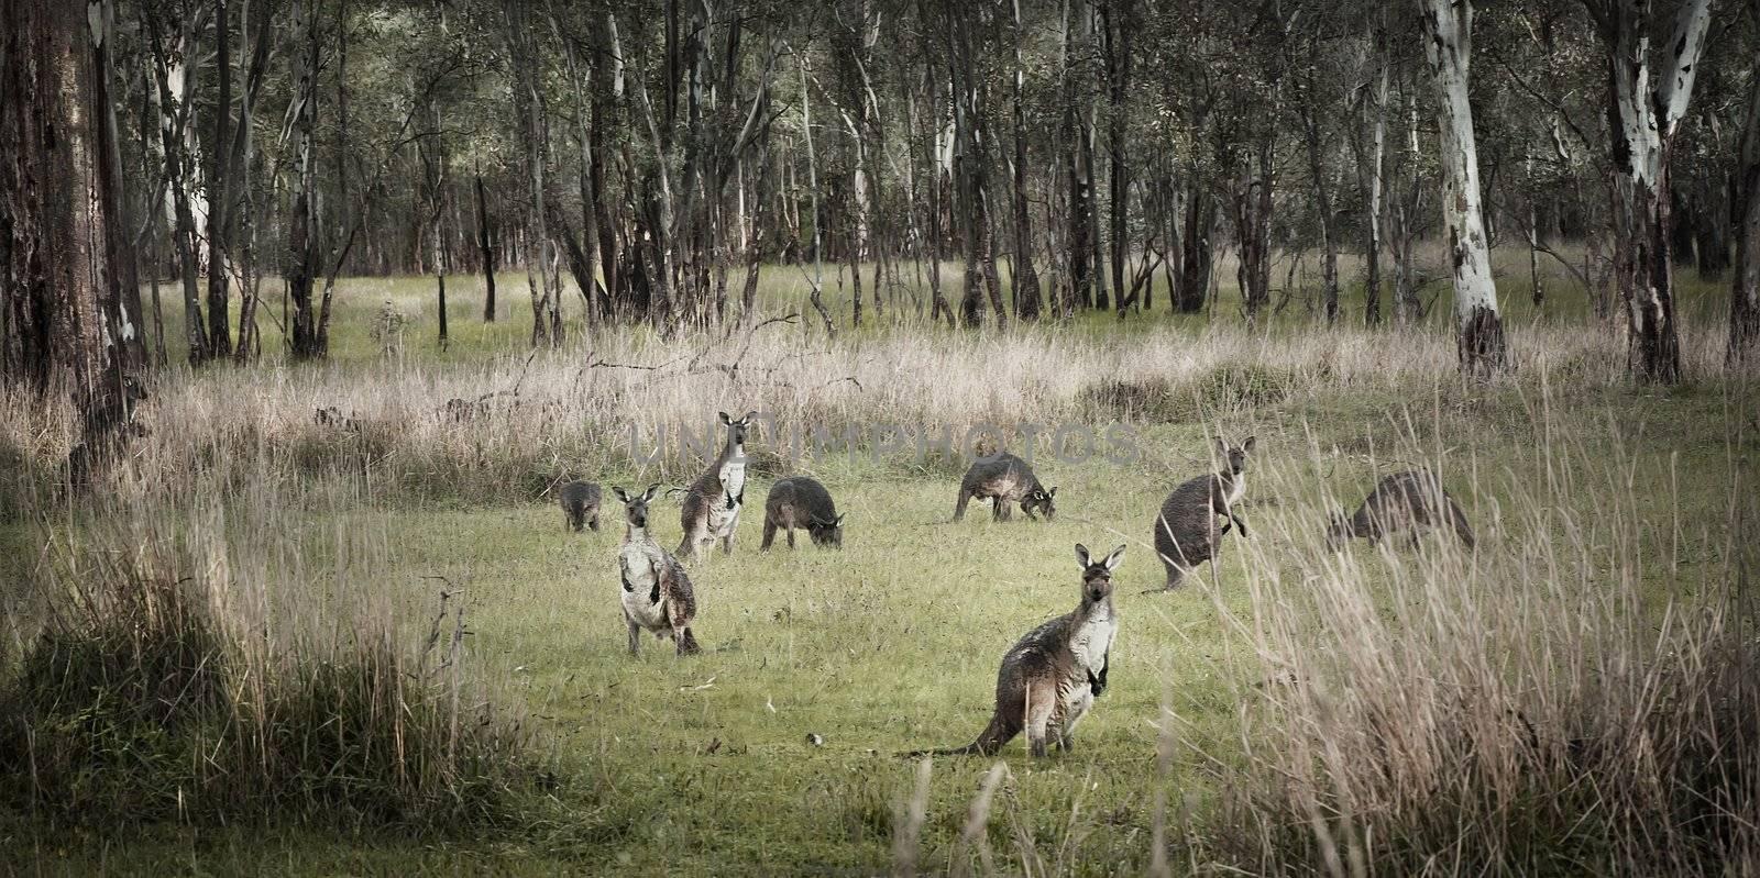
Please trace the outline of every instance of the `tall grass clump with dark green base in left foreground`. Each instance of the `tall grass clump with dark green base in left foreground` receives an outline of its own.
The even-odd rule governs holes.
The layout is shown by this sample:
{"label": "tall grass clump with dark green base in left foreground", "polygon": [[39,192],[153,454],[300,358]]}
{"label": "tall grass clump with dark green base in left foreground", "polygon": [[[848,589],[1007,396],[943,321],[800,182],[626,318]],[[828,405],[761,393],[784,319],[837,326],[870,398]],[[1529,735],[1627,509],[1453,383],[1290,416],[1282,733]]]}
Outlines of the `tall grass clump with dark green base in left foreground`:
{"label": "tall grass clump with dark green base in left foreground", "polygon": [[421,618],[373,598],[382,528],[334,494],[194,493],[32,528],[44,552],[4,595],[0,809],[39,827],[507,818],[540,765],[470,677],[456,595],[431,589]]}

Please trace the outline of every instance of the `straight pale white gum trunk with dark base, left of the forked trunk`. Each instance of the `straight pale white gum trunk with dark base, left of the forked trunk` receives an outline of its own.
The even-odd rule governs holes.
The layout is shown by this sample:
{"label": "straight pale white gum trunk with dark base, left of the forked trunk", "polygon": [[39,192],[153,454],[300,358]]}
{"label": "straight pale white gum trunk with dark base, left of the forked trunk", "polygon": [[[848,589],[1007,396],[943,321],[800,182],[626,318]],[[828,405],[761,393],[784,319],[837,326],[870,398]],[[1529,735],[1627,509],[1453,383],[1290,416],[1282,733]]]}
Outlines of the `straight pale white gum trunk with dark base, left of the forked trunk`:
{"label": "straight pale white gum trunk with dark base, left of the forked trunk", "polygon": [[1471,0],[1419,0],[1424,56],[1436,88],[1438,157],[1443,165],[1443,222],[1454,274],[1454,324],[1461,369],[1491,373],[1503,368],[1503,317],[1491,282],[1491,253],[1478,192],[1478,144],[1468,76],[1473,53]]}

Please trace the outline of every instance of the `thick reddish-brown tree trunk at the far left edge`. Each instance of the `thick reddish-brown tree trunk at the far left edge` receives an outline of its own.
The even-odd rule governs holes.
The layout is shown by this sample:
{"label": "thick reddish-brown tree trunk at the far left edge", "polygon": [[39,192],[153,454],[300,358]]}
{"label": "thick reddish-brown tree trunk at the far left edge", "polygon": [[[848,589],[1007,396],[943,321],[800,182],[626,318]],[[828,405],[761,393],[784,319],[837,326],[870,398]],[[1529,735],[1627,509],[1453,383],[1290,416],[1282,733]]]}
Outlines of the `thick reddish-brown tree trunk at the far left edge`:
{"label": "thick reddish-brown tree trunk at the far left edge", "polygon": [[111,459],[144,396],[116,271],[121,178],[102,72],[113,18],[93,12],[0,5],[0,384],[48,394],[70,380],[76,484]]}

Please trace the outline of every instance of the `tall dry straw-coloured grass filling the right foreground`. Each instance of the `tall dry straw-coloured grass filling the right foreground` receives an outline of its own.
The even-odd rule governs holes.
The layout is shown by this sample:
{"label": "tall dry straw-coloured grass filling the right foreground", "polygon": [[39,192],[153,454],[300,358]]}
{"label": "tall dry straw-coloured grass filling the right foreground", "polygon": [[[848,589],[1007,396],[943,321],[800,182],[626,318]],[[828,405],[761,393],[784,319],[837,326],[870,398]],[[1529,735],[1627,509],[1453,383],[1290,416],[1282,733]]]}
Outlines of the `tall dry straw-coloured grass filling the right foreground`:
{"label": "tall dry straw-coloured grass filling the right foreground", "polygon": [[1635,426],[1558,417],[1545,380],[1529,399],[1519,466],[1417,433],[1373,461],[1501,498],[1478,503],[1475,551],[1331,554],[1306,505],[1236,544],[1250,611],[1216,607],[1244,755],[1218,767],[1207,855],[1264,874],[1760,869],[1755,399],[1730,396],[1725,442],[1691,457],[1728,473],[1698,496]]}

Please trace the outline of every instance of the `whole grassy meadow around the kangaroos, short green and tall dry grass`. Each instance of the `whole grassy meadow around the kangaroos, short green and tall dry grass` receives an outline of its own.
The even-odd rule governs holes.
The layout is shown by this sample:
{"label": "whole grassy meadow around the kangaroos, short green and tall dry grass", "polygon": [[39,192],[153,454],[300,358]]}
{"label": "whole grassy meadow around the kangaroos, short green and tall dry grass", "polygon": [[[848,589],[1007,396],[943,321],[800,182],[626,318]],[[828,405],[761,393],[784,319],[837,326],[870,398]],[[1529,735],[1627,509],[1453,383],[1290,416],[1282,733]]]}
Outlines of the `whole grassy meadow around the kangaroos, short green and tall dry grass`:
{"label": "whole grassy meadow around the kangaroos, short green and tall dry grass", "polygon": [[[799,271],[766,276],[762,315],[799,313]],[[67,595],[148,567],[262,644],[262,667],[368,640],[440,656],[407,662],[449,699],[442,741],[477,741],[489,762],[516,751],[517,767],[484,816],[421,825],[327,818],[320,794],[282,818],[222,818],[178,783],[90,778],[69,788],[114,783],[157,816],[0,809],[0,867],[1753,871],[1760,394],[1751,366],[1723,364],[1727,287],[1688,283],[1688,380],[1658,389],[1630,382],[1580,289],[1554,274],[1535,310],[1524,278],[1503,278],[1514,368],[1482,384],[1456,373],[1445,296],[1415,327],[1324,327],[1301,301],[1248,327],[1225,282],[1209,318],[952,333],[894,308],[834,340],[811,315],[671,340],[574,324],[567,347],[532,354],[523,276],[503,278],[495,324],[475,278],[454,278],[445,350],[431,282],[359,278],[341,285],[331,362],[283,364],[266,324],[260,364],[172,366],[141,413],[151,433],[79,500],[53,487],[72,413],[7,398],[0,672],[30,663]],[[396,343],[370,333],[387,303],[407,318]],[[486,410],[454,421],[454,398]],[[315,422],[324,406],[356,429]],[[607,498],[604,530],[568,533],[551,491],[688,484],[702,463],[678,428],[718,410],[774,428],[753,440],[734,554],[692,568],[704,653],[649,639],[630,658],[621,514]],[[1040,435],[1054,521],[979,507],[950,523],[957,454],[780,450],[797,429],[876,422],[1001,424],[1016,452],[1019,424],[1123,426],[1133,454],[1075,463]],[[662,431],[674,442],[656,450]],[[1218,436],[1248,435],[1250,535],[1183,589],[1144,593],[1163,579],[1162,498],[1214,468]],[[1336,507],[1424,466],[1466,509],[1475,551],[1327,551]],[[848,514],[841,551],[757,551],[764,491],[788,473]],[[676,500],[655,530],[676,545]],[[1001,655],[1075,605],[1077,542],[1128,551],[1111,688],[1074,753],[901,758],[982,728]],[[436,623],[442,593],[454,616]],[[461,718],[498,732],[482,743]]]}

